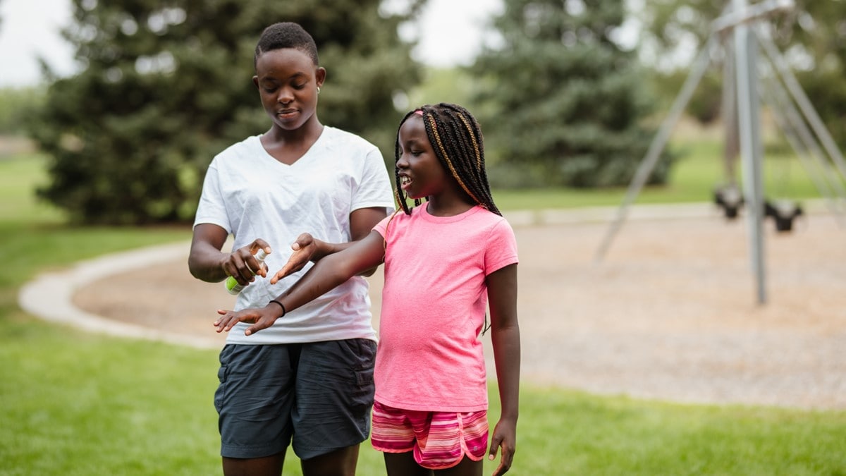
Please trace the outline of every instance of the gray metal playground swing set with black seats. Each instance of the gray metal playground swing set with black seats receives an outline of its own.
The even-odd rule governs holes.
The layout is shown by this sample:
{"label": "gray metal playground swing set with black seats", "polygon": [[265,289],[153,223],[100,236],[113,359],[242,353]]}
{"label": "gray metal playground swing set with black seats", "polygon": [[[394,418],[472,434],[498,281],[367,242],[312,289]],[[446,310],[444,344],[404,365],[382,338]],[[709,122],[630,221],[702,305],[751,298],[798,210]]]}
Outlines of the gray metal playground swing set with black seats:
{"label": "gray metal playground swing set with black seats", "polygon": [[[803,169],[826,200],[839,224],[846,224],[846,161],[811,105],[788,62],[772,42],[766,19],[794,8],[793,0],[731,0],[711,24],[711,35],[696,56],[667,118],[652,139],[629,184],[623,203],[607,230],[596,261],[602,261],[629,206],[654,169],[673,128],[706,70],[722,58],[722,114],[726,128],[726,182],[714,189],[713,200],[725,217],[736,219],[745,210],[750,230],[750,261],[756,278],[757,302],[766,302],[762,222],[770,217],[779,232],[793,229],[794,219],[805,214],[795,200],[764,198],[762,180],[761,105],[766,104],[779,130],[794,150]],[[759,55],[759,45],[764,55]],[[722,53],[722,54],[719,54]],[[715,64],[720,65],[720,64]],[[734,179],[741,158],[743,187]]]}

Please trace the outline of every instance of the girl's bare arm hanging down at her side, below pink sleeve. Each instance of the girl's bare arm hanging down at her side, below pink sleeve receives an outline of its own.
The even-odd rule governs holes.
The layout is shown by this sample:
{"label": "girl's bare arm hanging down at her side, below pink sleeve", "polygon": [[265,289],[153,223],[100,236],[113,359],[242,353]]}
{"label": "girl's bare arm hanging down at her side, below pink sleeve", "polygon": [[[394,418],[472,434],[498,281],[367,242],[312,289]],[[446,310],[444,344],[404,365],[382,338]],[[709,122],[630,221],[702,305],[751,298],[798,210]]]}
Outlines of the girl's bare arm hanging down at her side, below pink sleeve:
{"label": "girl's bare arm hanging down at her side, below pink sleeve", "polygon": [[488,459],[502,449],[495,476],[511,468],[517,442],[517,416],[520,385],[520,329],[517,324],[517,264],[497,269],[486,278],[491,308],[491,343],[497,368],[497,384],[502,413],[493,429]]}

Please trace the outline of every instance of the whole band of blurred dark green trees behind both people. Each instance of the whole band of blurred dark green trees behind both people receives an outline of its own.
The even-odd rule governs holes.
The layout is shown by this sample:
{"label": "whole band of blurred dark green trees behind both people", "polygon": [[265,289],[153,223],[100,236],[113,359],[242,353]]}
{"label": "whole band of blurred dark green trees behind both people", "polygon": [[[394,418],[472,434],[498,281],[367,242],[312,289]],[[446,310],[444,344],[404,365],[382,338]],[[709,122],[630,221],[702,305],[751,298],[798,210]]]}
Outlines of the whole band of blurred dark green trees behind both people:
{"label": "whole band of blurred dark green trees behind both people", "polygon": [[[426,0],[73,3],[64,34],[80,72],[56,77],[45,64],[41,85],[0,90],[0,136],[28,136],[46,153],[39,196],[72,221],[149,224],[190,223],[211,158],[269,127],[250,79],[272,22],[315,37],[328,71],[321,121],[376,143],[388,167],[405,110],[460,102],[481,120],[492,185],[585,188],[629,183],[687,76],[679,50],[698,49],[729,0],[643,0],[636,11],[619,0],[503,0],[490,25],[499,41],[451,69],[415,62],[414,41],[399,35]],[[619,36],[632,19],[634,45]],[[843,148],[846,2],[797,0],[773,20]],[[717,65],[686,113],[718,122],[721,91]],[[665,152],[651,183],[683,153]]]}

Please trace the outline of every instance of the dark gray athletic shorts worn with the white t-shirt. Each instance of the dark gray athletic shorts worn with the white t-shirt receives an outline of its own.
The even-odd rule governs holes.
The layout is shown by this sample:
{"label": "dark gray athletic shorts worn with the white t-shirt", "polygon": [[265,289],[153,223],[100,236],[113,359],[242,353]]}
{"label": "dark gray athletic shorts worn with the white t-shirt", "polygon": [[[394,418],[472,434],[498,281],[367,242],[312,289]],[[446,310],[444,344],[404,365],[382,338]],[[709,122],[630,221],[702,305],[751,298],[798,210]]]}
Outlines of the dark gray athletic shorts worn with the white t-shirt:
{"label": "dark gray athletic shorts worn with the white t-shirt", "polygon": [[376,342],[227,345],[215,392],[222,457],[257,458],[291,444],[300,459],[370,434]]}

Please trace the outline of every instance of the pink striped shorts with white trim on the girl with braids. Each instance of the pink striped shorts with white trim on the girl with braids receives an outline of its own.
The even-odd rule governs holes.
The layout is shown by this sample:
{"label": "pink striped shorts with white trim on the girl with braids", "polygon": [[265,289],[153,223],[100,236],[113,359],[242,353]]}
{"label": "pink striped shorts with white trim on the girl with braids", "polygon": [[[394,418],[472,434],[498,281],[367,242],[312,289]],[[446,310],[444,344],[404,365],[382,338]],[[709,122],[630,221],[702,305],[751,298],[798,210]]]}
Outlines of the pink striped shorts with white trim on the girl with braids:
{"label": "pink striped shorts with white trim on the girl with braids", "polygon": [[487,412],[420,412],[373,403],[371,442],[378,451],[414,451],[427,469],[452,468],[464,455],[473,461],[487,451]]}

